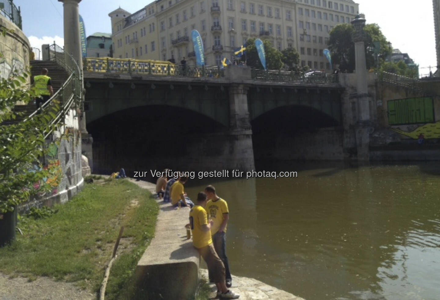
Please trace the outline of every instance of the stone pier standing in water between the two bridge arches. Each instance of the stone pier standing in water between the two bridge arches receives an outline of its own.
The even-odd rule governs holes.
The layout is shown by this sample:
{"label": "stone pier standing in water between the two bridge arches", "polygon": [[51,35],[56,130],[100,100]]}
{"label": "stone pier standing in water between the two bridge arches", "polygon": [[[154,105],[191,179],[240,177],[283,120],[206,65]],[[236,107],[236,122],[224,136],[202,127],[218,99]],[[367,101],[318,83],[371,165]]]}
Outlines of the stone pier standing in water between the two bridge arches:
{"label": "stone pier standing in water between the two bridge arches", "polygon": [[227,165],[240,171],[255,170],[252,146],[252,128],[247,102],[248,87],[231,84],[229,87],[229,140]]}

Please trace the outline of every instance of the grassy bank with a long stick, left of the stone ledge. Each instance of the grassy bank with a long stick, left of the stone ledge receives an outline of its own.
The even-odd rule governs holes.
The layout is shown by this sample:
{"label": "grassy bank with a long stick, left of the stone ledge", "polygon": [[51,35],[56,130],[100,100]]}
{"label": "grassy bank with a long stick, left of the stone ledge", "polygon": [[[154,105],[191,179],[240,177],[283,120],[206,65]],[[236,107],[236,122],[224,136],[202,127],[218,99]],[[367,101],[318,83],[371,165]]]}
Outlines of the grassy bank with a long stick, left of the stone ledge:
{"label": "grassy bank with a long stick, left of the stone ledge", "polygon": [[125,226],[106,299],[126,291],[137,261],[154,234],[158,206],[147,190],[127,180],[87,184],[55,213],[22,218],[11,245],[0,248],[0,270],[11,276],[50,276],[97,291],[119,229]]}

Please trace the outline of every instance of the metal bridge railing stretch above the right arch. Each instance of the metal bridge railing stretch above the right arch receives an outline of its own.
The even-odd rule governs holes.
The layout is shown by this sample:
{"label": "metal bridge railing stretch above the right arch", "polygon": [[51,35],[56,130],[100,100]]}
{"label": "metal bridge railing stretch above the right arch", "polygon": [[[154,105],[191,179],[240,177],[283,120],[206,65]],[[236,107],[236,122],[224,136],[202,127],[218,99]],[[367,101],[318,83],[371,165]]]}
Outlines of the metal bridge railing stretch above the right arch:
{"label": "metal bridge railing stretch above the right arch", "polygon": [[310,84],[330,84],[338,82],[336,75],[326,73],[310,74],[307,72],[253,69],[251,75],[254,80],[276,82],[298,82]]}

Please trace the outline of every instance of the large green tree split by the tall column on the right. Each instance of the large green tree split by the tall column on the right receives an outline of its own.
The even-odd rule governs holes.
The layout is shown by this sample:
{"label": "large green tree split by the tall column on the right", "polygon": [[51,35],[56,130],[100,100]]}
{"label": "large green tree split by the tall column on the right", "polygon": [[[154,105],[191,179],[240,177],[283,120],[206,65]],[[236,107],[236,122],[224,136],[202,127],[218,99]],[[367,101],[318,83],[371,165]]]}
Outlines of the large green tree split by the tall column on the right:
{"label": "large green tree split by the tall column on the right", "polygon": [[[352,72],[356,68],[355,45],[352,41],[353,31],[354,27],[351,24],[339,24],[330,31],[328,42],[333,63],[338,64],[340,70],[348,70],[348,72]],[[378,49],[379,64],[383,63],[390,55],[391,49],[377,24],[367,24],[364,27],[364,32],[367,69],[371,69],[376,65],[374,43],[378,42],[380,46]]]}

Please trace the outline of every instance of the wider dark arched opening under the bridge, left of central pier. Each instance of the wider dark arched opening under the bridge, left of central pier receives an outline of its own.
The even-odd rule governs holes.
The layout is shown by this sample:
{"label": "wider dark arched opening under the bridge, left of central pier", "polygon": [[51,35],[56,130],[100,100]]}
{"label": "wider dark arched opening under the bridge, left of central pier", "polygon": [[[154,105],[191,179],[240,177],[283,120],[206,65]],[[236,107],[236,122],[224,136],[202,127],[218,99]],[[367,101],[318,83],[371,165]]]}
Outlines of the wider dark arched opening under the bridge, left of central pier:
{"label": "wider dark arched opening under the bridge, left of central pier", "polygon": [[224,125],[201,113],[175,106],[141,106],[87,124],[93,137],[93,172],[151,180],[150,170],[204,170],[209,155],[223,151]]}

